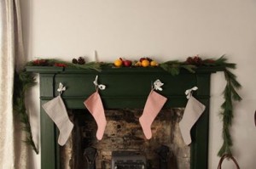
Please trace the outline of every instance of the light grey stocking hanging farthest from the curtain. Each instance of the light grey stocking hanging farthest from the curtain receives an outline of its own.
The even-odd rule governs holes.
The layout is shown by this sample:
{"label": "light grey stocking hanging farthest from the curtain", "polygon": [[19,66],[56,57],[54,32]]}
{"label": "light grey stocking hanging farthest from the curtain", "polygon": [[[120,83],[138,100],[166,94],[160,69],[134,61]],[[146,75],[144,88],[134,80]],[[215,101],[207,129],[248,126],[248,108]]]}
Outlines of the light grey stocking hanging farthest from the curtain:
{"label": "light grey stocking hanging farthest from the curtain", "polygon": [[183,119],[179,122],[180,131],[185,144],[189,145],[191,143],[190,129],[199,119],[205,108],[206,106],[201,104],[193,96],[189,97],[189,101],[184,110]]}

